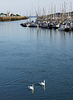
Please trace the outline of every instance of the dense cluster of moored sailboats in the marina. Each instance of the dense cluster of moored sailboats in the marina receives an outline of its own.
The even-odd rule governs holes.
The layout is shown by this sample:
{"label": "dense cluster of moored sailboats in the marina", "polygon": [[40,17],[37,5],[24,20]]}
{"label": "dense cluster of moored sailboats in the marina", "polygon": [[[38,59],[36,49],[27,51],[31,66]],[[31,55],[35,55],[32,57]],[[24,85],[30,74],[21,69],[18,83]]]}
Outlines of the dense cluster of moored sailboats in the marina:
{"label": "dense cluster of moored sailboats in the marina", "polygon": [[[72,14],[73,12],[71,15]],[[37,16],[35,21],[27,21],[25,23],[21,23],[20,25],[22,27],[40,27],[46,29],[59,28],[60,31],[73,31],[73,16],[68,16],[68,14],[65,13],[57,15],[58,16],[56,16],[56,18],[49,18],[51,15],[48,17],[45,16],[45,19],[43,19],[43,17],[41,18],[40,16]]]}

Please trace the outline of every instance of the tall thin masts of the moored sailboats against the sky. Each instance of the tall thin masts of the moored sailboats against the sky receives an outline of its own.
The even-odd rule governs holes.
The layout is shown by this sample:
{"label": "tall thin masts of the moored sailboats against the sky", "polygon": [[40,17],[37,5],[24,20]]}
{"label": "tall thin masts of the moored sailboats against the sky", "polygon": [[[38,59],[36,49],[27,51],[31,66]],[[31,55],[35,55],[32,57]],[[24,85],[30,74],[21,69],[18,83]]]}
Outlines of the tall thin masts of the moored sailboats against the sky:
{"label": "tall thin masts of the moored sailboats against the sky", "polygon": [[[69,5],[69,6],[68,6]],[[35,11],[34,11],[35,10]],[[70,4],[67,4],[66,2],[60,4],[60,7],[57,8],[57,6],[54,3],[51,3],[47,7],[40,7],[39,2],[38,2],[38,7],[37,10],[32,4],[31,11],[30,11],[30,16],[38,15],[38,16],[48,16],[51,15],[50,17],[54,19],[54,17],[57,16],[57,13],[68,13],[68,16],[71,16],[72,12],[72,2]],[[35,13],[35,14],[34,14]]]}

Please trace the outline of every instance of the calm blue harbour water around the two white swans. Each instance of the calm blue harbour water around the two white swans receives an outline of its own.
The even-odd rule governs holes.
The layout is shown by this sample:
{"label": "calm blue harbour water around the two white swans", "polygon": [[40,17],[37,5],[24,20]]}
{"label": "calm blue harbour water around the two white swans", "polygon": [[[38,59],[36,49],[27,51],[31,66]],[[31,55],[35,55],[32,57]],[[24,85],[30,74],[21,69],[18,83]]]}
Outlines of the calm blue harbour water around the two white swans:
{"label": "calm blue harbour water around the two white swans", "polygon": [[22,22],[0,22],[0,100],[73,100],[73,32]]}

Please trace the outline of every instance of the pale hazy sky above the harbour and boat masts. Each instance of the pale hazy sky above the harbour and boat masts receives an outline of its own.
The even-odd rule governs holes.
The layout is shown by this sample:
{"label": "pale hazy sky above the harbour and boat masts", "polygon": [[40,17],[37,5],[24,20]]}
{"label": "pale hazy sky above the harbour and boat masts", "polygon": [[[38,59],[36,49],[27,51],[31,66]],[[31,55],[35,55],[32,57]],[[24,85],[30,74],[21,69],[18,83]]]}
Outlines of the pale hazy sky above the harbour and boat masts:
{"label": "pale hazy sky above the harbour and boat masts", "polygon": [[66,11],[73,11],[73,0],[0,0],[0,13],[10,11],[24,16],[50,14],[52,8],[60,12],[66,5]]}

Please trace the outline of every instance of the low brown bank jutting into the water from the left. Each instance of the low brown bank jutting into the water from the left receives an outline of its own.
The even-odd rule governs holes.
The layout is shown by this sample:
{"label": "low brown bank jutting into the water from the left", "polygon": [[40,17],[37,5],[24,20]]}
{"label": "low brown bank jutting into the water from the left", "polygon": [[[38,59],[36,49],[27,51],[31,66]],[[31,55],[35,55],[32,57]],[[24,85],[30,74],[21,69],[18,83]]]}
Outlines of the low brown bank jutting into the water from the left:
{"label": "low brown bank jutting into the water from the left", "polygon": [[28,19],[28,17],[26,16],[0,17],[0,22],[17,21],[17,20],[24,20],[24,19]]}

